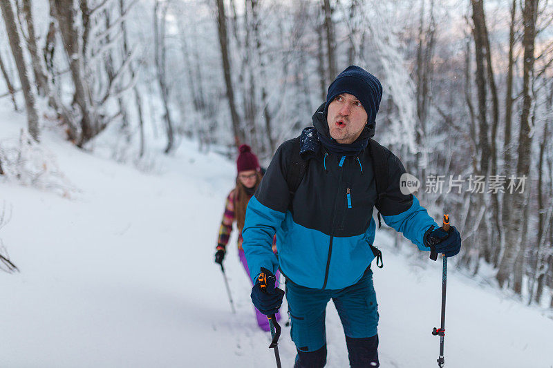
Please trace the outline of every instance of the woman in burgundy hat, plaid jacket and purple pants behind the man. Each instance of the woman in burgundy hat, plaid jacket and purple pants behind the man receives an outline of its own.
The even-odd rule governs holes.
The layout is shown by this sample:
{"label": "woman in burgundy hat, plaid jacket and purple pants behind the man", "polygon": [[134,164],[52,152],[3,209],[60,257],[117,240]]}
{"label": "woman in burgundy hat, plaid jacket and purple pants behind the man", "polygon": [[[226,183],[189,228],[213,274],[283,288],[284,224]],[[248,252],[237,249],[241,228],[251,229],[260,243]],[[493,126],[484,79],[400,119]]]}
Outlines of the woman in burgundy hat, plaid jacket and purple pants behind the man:
{"label": "woman in burgundy hat, plaid jacket and purple pants behind the man", "polygon": [[[240,261],[246,271],[248,280],[251,282],[250,270],[247,268],[246,257],[242,249],[242,229],[244,228],[247,202],[250,201],[250,198],[254,195],[257,187],[259,186],[262,175],[259,161],[256,155],[252,153],[252,148],[247,146],[247,144],[243,144],[240,146],[239,151],[240,155],[238,155],[238,159],[236,159],[236,168],[238,171],[238,175],[236,176],[236,187],[230,191],[227,197],[225,213],[223,213],[223,222],[221,223],[221,229],[219,230],[215,262],[218,264],[223,263],[227,243],[229,242],[229,236],[232,231],[232,223],[236,221],[236,226],[238,227],[238,257],[240,258]],[[273,240],[272,249],[274,253],[277,253],[275,240]],[[276,277],[277,280],[279,280],[278,272]],[[269,331],[269,320],[267,319],[267,316],[263,315],[257,309],[255,309],[255,313],[259,327],[261,327],[263,331]],[[276,317],[277,321],[280,320],[279,313],[277,313]]]}

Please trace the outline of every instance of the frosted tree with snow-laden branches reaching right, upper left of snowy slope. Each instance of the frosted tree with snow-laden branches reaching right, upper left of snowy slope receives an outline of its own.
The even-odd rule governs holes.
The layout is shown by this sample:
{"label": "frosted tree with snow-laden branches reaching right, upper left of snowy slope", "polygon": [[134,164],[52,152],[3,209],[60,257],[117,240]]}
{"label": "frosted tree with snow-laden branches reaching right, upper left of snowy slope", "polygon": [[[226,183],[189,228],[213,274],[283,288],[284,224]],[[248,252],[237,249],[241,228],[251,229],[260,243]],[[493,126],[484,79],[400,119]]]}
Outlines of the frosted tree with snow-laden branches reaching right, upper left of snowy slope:
{"label": "frosted tree with snow-laden branches reaching right, upper left of snowy slope", "polygon": [[[110,0],[105,0],[91,7],[87,0],[80,0],[77,8],[75,0],[50,0],[50,11],[62,36],[74,89],[71,111],[66,119],[68,138],[79,147],[83,147],[109,123],[120,117],[119,111],[109,115],[106,106],[111,99],[117,99],[134,84],[134,81],[127,84],[122,81],[132,61],[131,56],[122,61],[113,78],[107,83],[102,82],[104,74],[99,72],[101,57],[117,41],[113,34],[120,30],[120,23],[129,12],[127,8],[125,14],[113,21],[109,28],[102,28],[102,10],[109,3]],[[94,32],[91,31],[93,26]],[[106,38],[111,41],[106,42]]]}

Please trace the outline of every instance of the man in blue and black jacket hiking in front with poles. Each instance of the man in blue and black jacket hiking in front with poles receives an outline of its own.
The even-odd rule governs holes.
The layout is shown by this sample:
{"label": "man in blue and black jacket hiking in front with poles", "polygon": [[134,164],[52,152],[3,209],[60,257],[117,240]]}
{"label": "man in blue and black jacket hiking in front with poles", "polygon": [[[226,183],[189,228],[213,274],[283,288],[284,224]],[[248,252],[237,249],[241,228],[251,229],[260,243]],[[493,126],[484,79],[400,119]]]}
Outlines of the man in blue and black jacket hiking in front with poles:
{"label": "man in blue and black jacket hiking in front with poles", "polygon": [[[256,282],[261,271],[280,269],[297,348],[294,367],[326,364],[325,309],[335,304],[346,335],[351,367],[378,367],[378,312],[370,265],[376,224],[373,206],[384,222],[423,251],[435,247],[448,257],[460,251],[458,231],[441,229],[417,198],[400,191],[404,166],[382,148],[382,163],[369,139],[382,99],[378,79],[349,66],[328,87],[326,103],[313,115],[315,128],[283,143],[247,206],[243,249]],[[299,151],[299,156],[298,152]],[[306,162],[299,185],[290,184],[297,157]],[[386,167],[385,193],[378,193],[375,166]],[[382,168],[379,168],[382,173]],[[296,175],[297,176],[297,175]],[[381,175],[382,176],[382,175]],[[382,186],[382,185],[381,185]],[[277,233],[277,258],[271,245]],[[268,285],[252,289],[255,306],[276,313],[284,292]]]}

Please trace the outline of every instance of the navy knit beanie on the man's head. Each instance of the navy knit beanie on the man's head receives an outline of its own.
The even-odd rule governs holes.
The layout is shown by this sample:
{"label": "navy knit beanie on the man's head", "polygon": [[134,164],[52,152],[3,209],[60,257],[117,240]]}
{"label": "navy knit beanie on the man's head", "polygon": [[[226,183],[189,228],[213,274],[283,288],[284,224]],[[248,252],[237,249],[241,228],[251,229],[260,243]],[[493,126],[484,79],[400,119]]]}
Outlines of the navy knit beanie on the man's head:
{"label": "navy knit beanie on the man's head", "polygon": [[378,113],[380,100],[382,99],[382,85],[370,72],[350,65],[341,72],[328,86],[326,93],[325,115],[328,113],[328,105],[341,93],[349,93],[359,99],[367,113],[367,124],[373,124]]}

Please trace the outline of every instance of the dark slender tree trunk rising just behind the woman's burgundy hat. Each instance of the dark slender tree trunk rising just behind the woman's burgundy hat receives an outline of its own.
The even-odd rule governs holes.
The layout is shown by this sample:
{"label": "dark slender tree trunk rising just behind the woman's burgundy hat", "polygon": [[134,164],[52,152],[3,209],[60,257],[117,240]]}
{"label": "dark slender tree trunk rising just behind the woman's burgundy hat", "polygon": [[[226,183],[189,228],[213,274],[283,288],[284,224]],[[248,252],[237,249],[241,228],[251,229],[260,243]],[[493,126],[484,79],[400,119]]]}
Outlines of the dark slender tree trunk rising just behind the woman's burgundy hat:
{"label": "dark slender tree trunk rising just behind the woman's burgundy hat", "polygon": [[241,142],[244,142],[244,137],[240,131],[240,118],[238,117],[236,105],[234,104],[234,89],[232,87],[229,58],[229,41],[227,37],[227,17],[225,15],[225,4],[223,0],[217,0],[217,26],[219,46],[221,46],[221,59],[223,61],[223,72],[225,74],[225,84],[227,86],[227,99],[229,101],[232,129],[234,131],[234,144],[238,147]]}

